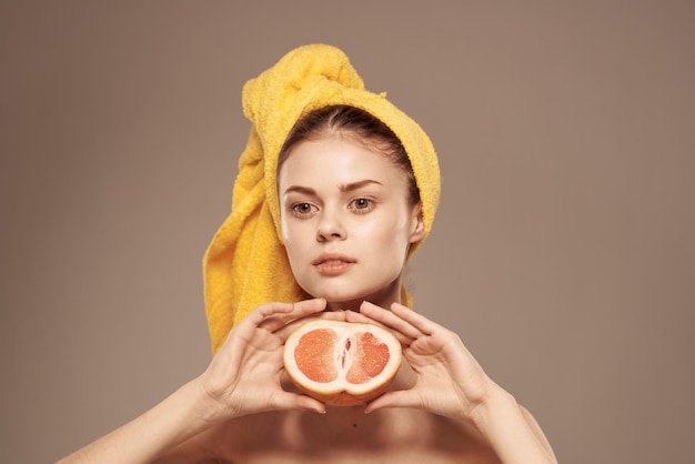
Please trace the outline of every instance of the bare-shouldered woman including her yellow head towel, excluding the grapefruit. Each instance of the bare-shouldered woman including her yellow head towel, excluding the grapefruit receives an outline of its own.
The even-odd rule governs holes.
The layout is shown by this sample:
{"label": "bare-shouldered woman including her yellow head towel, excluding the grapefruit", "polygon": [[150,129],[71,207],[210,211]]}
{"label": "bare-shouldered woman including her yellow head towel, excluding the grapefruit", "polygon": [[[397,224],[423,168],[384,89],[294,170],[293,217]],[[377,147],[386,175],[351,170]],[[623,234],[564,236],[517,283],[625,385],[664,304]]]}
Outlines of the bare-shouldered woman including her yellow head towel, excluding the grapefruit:
{"label": "bare-shouldered woman including her yellow head towel, excluding the grapefruit", "polygon": [[[461,340],[406,307],[403,269],[440,191],[424,132],[325,46],[250,81],[244,111],[232,213],[205,256],[214,359],[66,462],[555,462]],[[293,390],[283,343],[309,317],[392,330],[404,362],[390,391],[329,407]]]}

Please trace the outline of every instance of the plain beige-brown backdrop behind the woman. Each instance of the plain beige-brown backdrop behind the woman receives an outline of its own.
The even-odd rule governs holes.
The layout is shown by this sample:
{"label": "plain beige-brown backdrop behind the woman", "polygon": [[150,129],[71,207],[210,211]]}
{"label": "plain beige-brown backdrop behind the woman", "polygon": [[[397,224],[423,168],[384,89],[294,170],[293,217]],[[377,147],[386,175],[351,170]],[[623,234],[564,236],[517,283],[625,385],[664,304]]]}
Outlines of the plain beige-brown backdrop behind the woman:
{"label": "plain beige-brown backdrop behind the woman", "polygon": [[58,458],[205,367],[241,85],[318,41],[441,154],[417,310],[561,462],[692,458],[695,3],[424,4],[0,3],[0,461]]}

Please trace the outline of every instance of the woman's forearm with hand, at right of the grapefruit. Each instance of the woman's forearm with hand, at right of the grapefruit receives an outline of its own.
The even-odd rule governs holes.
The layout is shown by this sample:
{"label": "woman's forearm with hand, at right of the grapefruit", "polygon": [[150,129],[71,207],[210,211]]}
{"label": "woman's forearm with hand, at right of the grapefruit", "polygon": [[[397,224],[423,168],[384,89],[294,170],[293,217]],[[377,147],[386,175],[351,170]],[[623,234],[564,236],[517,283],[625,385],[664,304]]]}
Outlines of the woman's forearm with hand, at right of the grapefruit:
{"label": "woman's forearm with hand, at right of the grapefruit", "polygon": [[426,410],[462,424],[472,423],[503,463],[557,462],[531,414],[485,374],[455,333],[397,303],[391,311],[363,303],[361,314],[352,317],[366,317],[392,329],[417,374],[413,387],[383,394],[367,404],[367,411]]}

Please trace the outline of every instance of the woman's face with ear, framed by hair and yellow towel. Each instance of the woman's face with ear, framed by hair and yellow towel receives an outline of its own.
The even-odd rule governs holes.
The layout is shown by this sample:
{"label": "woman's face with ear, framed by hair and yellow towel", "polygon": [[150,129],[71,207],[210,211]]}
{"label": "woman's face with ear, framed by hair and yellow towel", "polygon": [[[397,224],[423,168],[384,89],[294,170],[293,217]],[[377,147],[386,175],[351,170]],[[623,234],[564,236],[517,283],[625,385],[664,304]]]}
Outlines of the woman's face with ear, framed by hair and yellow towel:
{"label": "woman's face with ear, framed by hair and yellow towel", "polygon": [[291,149],[278,192],[292,272],[309,294],[331,309],[399,300],[409,245],[423,236],[400,168],[333,134]]}

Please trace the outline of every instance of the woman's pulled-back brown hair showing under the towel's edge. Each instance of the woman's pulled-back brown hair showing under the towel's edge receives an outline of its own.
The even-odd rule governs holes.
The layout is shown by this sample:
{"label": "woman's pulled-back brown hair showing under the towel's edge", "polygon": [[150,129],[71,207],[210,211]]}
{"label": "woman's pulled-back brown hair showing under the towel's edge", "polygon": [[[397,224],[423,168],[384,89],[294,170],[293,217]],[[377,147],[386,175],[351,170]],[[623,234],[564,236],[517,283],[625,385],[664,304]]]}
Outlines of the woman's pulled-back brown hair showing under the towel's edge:
{"label": "woman's pulled-back brown hair showing under the towel's edge", "polygon": [[399,138],[386,124],[369,112],[349,105],[329,105],[311,111],[300,119],[285,139],[278,157],[278,171],[288,159],[292,147],[300,142],[316,140],[326,133],[352,137],[359,143],[401,168],[407,175],[411,204],[420,202],[420,190],[413,168]]}

